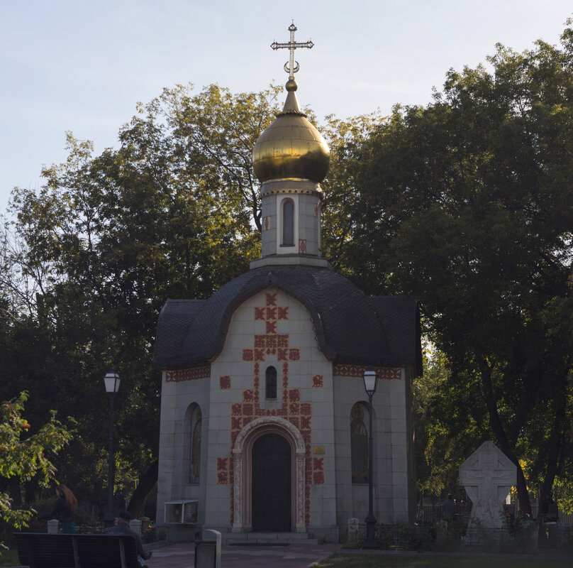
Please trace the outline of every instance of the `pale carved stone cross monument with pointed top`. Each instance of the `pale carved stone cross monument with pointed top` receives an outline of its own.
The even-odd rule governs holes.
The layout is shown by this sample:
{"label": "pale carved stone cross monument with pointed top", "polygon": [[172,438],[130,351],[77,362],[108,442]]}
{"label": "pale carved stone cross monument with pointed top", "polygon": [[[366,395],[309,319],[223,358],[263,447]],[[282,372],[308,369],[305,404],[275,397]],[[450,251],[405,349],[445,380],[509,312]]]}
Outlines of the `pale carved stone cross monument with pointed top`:
{"label": "pale carved stone cross monument with pointed top", "polygon": [[472,500],[472,520],[484,527],[501,528],[504,501],[516,484],[517,468],[491,442],[484,442],[460,466],[460,485]]}

